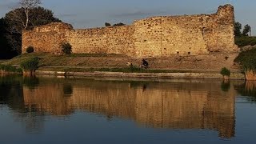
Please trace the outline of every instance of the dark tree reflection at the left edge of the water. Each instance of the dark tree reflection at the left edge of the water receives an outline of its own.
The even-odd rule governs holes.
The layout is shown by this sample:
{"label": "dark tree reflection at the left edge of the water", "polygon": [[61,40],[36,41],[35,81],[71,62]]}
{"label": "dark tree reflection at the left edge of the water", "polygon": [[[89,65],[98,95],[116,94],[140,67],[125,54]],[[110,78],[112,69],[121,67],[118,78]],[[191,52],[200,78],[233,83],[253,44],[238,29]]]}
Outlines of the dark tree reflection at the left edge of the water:
{"label": "dark tree reflection at the left edge of the water", "polygon": [[[34,78],[29,79],[34,81]],[[22,83],[35,82],[28,82],[29,79],[24,80],[21,76],[15,75],[0,77],[0,105],[8,106],[10,110],[14,111],[14,118],[25,123],[27,132],[37,133],[43,128],[44,118],[42,113],[38,113],[35,106],[26,107],[24,104]]]}

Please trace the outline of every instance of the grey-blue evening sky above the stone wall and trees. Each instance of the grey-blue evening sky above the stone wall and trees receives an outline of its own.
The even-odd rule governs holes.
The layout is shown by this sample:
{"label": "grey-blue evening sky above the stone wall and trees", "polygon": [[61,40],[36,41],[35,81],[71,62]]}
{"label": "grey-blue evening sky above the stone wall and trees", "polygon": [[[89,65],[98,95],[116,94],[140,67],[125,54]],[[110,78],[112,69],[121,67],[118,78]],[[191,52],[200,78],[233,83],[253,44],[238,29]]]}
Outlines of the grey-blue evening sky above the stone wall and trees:
{"label": "grey-blue evening sky above the stone wall and trees", "polygon": [[[18,7],[19,0],[0,0],[0,18]],[[74,28],[91,28],[161,15],[213,14],[218,6],[234,6],[235,19],[249,24],[256,35],[255,0],[42,0],[42,7]]]}

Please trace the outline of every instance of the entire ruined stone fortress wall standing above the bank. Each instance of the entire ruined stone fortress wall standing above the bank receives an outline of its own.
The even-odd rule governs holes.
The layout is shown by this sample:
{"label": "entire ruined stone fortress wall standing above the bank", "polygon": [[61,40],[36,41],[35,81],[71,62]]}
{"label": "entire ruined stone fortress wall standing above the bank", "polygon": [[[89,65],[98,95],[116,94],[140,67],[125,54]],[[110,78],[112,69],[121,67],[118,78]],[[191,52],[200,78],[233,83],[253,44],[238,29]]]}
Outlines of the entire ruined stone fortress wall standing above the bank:
{"label": "entire ruined stone fortress wall standing above the bank", "polygon": [[34,46],[37,52],[59,54],[62,42],[69,42],[77,54],[126,54],[133,58],[232,52],[237,48],[234,7],[219,6],[216,14],[159,16],[135,21],[130,26],[84,30],[54,22],[24,30],[22,53]]}

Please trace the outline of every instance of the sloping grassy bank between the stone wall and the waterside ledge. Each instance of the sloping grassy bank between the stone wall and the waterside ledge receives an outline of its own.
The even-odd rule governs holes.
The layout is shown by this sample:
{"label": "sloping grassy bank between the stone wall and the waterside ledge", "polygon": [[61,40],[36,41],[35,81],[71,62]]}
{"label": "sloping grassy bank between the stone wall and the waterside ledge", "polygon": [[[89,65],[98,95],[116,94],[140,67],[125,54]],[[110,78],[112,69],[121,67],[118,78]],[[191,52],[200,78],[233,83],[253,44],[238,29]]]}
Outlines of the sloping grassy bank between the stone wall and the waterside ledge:
{"label": "sloping grassy bank between the stone wall and the waterside ledge", "polygon": [[[3,62],[5,65],[21,66],[30,58],[38,58],[38,70],[62,71],[62,72],[125,72],[125,73],[214,73],[217,74],[222,67],[233,65],[236,54],[226,55],[211,54],[190,57],[166,57],[146,58],[149,69],[141,69],[139,65],[142,58],[130,58],[118,54],[64,54],[56,55],[49,53],[22,54],[18,57]],[[127,62],[133,67],[127,66]],[[230,69],[232,72],[238,70]]]}

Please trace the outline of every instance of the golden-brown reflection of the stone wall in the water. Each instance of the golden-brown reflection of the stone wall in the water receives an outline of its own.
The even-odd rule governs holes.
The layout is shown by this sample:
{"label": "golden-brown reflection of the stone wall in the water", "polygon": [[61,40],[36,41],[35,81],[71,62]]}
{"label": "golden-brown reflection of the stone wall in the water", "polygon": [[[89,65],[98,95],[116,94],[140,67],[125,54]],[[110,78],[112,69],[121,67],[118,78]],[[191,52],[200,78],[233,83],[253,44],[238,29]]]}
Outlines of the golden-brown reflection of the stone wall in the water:
{"label": "golden-brown reflection of the stone wall in the water", "polygon": [[136,83],[83,81],[23,89],[25,105],[54,115],[85,110],[130,118],[139,124],[173,129],[218,130],[234,137],[234,89],[221,83]]}

